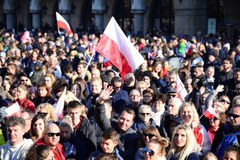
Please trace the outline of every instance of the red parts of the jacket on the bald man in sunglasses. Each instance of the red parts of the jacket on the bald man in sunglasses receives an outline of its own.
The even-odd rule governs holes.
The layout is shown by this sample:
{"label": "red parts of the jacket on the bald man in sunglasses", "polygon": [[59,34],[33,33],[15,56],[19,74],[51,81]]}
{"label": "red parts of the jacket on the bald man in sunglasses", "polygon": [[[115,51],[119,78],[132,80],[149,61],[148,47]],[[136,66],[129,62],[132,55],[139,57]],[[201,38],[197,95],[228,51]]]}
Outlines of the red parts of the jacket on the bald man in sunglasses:
{"label": "red parts of the jacket on the bald man in sunglasses", "polygon": [[[43,144],[46,144],[45,142],[44,142],[44,139],[43,138],[41,138],[41,139],[39,139],[37,142],[35,142],[35,145],[43,145]],[[53,151],[53,154],[54,154],[54,160],[66,160],[65,159],[65,156],[64,156],[64,151],[63,151],[63,146],[60,144],[60,143],[58,143],[57,145],[56,145],[56,148],[54,149],[54,148],[51,148],[52,149],[52,151]],[[57,151],[56,150],[58,150],[58,153],[57,153]]]}

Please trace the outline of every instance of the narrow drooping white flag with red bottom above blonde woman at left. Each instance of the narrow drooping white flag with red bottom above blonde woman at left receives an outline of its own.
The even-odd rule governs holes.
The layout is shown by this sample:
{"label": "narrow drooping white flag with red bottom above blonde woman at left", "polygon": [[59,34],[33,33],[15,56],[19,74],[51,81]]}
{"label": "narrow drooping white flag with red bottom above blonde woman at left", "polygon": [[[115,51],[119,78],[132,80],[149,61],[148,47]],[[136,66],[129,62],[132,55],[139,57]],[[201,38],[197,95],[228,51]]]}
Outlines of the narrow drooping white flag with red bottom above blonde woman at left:
{"label": "narrow drooping white flag with red bottom above blonde woman at left", "polygon": [[66,87],[64,88],[61,96],[59,97],[57,103],[55,103],[53,106],[55,108],[55,113],[58,116],[59,119],[62,119],[63,117],[63,108],[64,108],[64,102],[66,97]]}

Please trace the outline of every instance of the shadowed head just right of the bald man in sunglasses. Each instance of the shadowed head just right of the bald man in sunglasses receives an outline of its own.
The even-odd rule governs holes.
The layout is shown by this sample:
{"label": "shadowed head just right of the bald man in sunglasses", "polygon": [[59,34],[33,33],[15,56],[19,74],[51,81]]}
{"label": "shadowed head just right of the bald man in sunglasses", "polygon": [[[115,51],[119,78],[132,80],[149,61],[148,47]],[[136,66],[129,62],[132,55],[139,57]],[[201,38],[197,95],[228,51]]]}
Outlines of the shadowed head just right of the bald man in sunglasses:
{"label": "shadowed head just right of the bald man in sunglasses", "polygon": [[73,132],[71,125],[67,122],[61,122],[59,124],[59,128],[61,133],[61,140],[63,141],[69,140]]}

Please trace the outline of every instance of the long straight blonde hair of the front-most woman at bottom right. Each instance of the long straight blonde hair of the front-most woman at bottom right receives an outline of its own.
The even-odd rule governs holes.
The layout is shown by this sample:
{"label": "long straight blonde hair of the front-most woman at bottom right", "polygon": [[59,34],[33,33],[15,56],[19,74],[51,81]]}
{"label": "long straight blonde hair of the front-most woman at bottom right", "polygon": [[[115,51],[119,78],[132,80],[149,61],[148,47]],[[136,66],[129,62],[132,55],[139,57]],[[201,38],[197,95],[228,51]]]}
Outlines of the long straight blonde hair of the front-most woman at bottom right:
{"label": "long straight blonde hair of the front-most woman at bottom right", "polygon": [[178,153],[177,151],[179,148],[175,144],[174,137],[176,136],[177,131],[180,129],[183,129],[186,132],[186,144],[184,145],[183,148],[181,148],[180,156],[179,156],[179,160],[184,160],[192,152],[198,151],[198,145],[197,145],[197,141],[194,136],[193,130],[188,125],[185,125],[185,124],[180,124],[175,128],[172,135],[171,146],[170,146],[170,150],[167,157],[170,158],[173,155]]}

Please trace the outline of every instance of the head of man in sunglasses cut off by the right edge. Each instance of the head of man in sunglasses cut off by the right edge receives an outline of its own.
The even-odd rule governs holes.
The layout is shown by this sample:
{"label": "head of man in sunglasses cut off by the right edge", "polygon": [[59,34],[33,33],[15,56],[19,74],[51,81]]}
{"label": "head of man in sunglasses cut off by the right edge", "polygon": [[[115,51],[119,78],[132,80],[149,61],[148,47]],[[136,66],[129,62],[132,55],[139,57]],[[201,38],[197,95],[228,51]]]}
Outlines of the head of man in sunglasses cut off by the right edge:
{"label": "head of man in sunglasses cut off by the right edge", "polygon": [[230,112],[227,114],[230,118],[230,123],[233,126],[240,125],[240,105],[235,105],[230,109]]}

